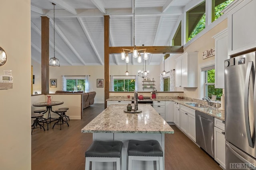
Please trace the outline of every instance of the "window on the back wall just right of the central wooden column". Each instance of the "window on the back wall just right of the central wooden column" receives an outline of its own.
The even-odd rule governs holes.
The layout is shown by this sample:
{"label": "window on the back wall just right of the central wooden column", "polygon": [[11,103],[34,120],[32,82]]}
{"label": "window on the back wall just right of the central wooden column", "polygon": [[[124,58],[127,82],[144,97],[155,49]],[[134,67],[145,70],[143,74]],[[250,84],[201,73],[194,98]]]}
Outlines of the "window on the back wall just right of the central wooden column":
{"label": "window on the back wall just right of the central wooden column", "polygon": [[114,78],[114,92],[134,92],[135,79]]}

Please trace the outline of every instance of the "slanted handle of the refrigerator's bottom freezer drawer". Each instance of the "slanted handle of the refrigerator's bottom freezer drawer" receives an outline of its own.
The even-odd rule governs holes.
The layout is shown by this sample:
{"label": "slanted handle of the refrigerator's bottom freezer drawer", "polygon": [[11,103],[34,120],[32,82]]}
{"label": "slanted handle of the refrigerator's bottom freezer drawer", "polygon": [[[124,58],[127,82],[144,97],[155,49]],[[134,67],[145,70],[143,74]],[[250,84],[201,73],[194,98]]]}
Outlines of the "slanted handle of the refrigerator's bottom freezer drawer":
{"label": "slanted handle of the refrigerator's bottom freezer drawer", "polygon": [[[238,150],[237,148],[233,147],[232,145],[230,145],[229,143],[226,142],[226,147],[242,162],[250,164],[250,165],[255,165],[255,160],[253,160],[252,158],[250,158],[249,156],[247,156],[246,154],[244,154],[243,152],[241,152],[240,150]],[[254,166],[255,168],[255,166]]]}

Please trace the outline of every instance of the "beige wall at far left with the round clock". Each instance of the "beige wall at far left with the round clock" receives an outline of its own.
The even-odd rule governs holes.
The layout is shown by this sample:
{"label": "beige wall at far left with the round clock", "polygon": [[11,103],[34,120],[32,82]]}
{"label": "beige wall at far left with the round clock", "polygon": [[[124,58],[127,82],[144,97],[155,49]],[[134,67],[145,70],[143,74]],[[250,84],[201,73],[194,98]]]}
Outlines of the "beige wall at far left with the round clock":
{"label": "beige wall at far left with the round clock", "polygon": [[13,88],[0,90],[0,169],[31,169],[30,0],[1,0],[0,46],[7,53]]}

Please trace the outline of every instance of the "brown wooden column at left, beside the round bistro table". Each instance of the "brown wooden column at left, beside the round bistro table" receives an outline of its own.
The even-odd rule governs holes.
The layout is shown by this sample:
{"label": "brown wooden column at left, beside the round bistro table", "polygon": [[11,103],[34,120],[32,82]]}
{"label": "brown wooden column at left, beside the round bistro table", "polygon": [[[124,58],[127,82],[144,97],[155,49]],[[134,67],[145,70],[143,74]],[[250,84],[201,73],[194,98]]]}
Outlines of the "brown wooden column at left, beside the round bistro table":
{"label": "brown wooden column at left, beside the round bistro table", "polygon": [[49,18],[41,16],[41,76],[42,94],[49,93]]}

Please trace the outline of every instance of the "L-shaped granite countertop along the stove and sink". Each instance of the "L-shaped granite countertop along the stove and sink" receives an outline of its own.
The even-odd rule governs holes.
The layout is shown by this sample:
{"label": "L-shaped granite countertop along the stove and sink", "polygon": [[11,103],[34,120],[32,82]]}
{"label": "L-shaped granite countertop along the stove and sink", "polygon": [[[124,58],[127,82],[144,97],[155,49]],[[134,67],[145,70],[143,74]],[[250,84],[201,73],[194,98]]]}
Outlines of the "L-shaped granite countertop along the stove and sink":
{"label": "L-shaped granite countertop along the stove and sink", "polygon": [[[106,101],[132,101],[132,97],[131,98],[127,98],[126,96],[110,96],[110,98],[108,98]],[[159,96],[156,99],[152,99],[152,101],[173,101],[173,102],[177,102],[179,104],[182,104],[186,107],[190,107],[192,109],[195,109],[197,111],[200,111],[202,113],[205,113],[207,115],[216,117],[222,121],[225,120],[225,111],[224,110],[219,110],[217,107],[193,107],[190,105],[187,105],[186,103],[191,103],[191,102],[195,102],[195,103],[201,103],[201,104],[205,104],[205,101],[203,100],[198,100],[198,99],[192,99],[192,98],[184,98],[184,99],[178,99],[177,96]],[[207,105],[207,104],[205,104]]]}

